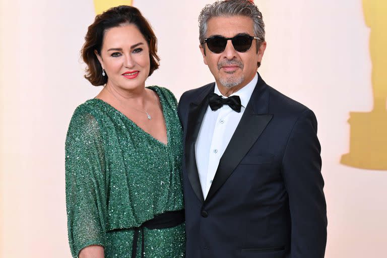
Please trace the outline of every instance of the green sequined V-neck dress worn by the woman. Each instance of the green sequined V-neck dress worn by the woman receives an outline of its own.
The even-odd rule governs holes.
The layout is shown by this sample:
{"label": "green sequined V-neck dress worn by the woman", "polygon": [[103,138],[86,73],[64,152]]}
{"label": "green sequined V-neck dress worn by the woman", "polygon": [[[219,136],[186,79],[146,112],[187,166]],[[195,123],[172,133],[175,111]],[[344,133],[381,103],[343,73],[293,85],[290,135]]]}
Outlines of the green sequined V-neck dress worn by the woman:
{"label": "green sequined V-neck dress worn by the woman", "polygon": [[[73,257],[92,244],[105,257],[132,257],[134,227],[183,209],[182,131],[173,94],[149,87],[161,102],[167,145],[100,99],[80,105],[66,139],[66,203]],[[144,229],[145,257],[184,257],[184,223]],[[141,237],[137,257],[141,257]]]}

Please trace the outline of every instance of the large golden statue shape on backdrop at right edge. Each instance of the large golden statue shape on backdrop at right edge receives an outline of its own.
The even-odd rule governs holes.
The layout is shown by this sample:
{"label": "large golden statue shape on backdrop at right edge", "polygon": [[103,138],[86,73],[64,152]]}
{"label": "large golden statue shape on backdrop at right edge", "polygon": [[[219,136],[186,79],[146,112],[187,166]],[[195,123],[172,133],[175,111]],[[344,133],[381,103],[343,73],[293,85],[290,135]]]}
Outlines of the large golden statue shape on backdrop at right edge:
{"label": "large golden statue shape on backdrop at right edge", "polygon": [[387,170],[387,1],[363,0],[363,9],[365,23],[370,28],[373,109],[350,113],[350,152],[342,156],[341,163]]}

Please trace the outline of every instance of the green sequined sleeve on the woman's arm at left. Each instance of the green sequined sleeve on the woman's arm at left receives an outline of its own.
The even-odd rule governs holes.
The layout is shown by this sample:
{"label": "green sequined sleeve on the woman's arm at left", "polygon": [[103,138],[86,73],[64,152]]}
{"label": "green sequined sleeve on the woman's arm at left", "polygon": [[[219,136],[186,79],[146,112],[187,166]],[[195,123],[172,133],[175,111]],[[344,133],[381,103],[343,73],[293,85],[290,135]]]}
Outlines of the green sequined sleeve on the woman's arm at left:
{"label": "green sequined sleeve on the woman's arm at left", "polygon": [[73,257],[88,245],[105,245],[104,149],[96,119],[74,113],[66,139],[66,205]]}

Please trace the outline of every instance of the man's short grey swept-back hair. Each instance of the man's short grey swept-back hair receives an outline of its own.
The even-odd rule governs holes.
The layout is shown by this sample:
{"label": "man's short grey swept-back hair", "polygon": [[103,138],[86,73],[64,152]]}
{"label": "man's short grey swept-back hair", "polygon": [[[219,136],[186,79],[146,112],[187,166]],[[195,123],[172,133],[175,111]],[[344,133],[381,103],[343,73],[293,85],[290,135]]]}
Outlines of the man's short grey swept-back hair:
{"label": "man's short grey swept-back hair", "polygon": [[219,16],[245,16],[252,19],[253,36],[257,39],[257,51],[261,43],[265,41],[265,24],[262,19],[262,13],[249,0],[224,0],[217,1],[212,5],[206,5],[199,15],[199,41],[204,45],[204,39],[207,33],[207,23],[213,17]]}

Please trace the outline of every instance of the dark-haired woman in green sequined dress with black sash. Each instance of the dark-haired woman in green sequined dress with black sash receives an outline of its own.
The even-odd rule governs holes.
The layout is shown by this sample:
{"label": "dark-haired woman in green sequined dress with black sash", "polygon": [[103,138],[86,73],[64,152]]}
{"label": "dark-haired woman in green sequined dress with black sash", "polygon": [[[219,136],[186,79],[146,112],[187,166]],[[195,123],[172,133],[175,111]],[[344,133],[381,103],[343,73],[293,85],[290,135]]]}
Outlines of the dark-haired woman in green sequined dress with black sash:
{"label": "dark-haired woman in green sequined dress with black sash", "polygon": [[130,6],[97,15],[85,39],[85,77],[104,87],[75,110],[66,140],[72,254],[184,257],[177,103],[169,90],[145,87],[157,39]]}

